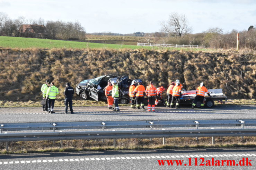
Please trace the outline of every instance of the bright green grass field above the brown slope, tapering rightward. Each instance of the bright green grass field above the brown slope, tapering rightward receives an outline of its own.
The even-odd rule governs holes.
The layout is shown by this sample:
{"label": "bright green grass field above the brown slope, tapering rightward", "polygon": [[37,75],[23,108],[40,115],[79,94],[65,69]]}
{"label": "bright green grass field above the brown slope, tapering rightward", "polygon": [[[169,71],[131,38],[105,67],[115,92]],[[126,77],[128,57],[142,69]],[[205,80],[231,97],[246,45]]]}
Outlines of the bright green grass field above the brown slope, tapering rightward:
{"label": "bright green grass field above the brown slope, tapering rightward", "polygon": [[[104,43],[90,43],[90,42],[77,42],[77,41],[63,41],[63,40],[49,40],[39,38],[22,38],[22,37],[2,37],[0,36],[0,47],[2,48],[91,48],[91,49],[148,49],[158,50],[158,47],[142,47],[124,44],[104,44]],[[166,49],[166,48],[165,48]],[[168,50],[181,50],[181,48],[167,48]],[[207,49],[183,49],[193,51],[205,51]]]}

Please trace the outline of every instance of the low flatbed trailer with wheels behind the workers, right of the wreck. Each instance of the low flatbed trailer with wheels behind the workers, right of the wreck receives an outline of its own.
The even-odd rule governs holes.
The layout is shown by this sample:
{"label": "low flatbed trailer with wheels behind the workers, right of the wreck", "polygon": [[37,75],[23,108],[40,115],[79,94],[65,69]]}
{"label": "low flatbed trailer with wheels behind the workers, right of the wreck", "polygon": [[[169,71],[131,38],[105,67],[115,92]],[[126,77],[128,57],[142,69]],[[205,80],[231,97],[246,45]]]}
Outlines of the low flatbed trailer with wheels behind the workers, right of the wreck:
{"label": "low flatbed trailer with wheels behind the workers, right of the wreck", "polygon": [[[205,107],[212,108],[214,106],[214,101],[227,101],[227,96],[222,92],[222,89],[209,89],[208,90],[211,94],[211,97],[208,96],[208,94],[205,93],[204,95],[204,103]],[[180,98],[180,104],[192,104],[195,97],[196,97],[196,91],[190,90],[190,91],[183,91],[182,92],[182,98]],[[201,106],[200,102],[196,103],[197,107]]]}

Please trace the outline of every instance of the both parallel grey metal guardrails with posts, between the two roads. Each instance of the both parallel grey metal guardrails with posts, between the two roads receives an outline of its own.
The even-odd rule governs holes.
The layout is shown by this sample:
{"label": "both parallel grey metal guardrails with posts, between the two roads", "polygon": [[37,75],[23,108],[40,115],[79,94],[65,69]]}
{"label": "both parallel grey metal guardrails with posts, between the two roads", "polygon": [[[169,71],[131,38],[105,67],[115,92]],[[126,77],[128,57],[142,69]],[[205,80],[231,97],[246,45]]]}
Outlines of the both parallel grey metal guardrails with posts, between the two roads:
{"label": "both parallel grey metal guardrails with posts, between the two roads", "polygon": [[[70,139],[114,139],[117,138],[165,138],[169,137],[214,137],[216,136],[256,136],[256,119],[217,119],[217,120],[159,120],[159,121],[94,121],[94,122],[39,122],[39,123],[0,123],[0,141],[38,141]],[[241,127],[241,129],[198,129],[199,127]],[[153,130],[153,128],[195,127],[187,130]],[[102,131],[55,132],[56,129],[101,129]],[[151,128],[151,130],[104,131],[106,128]],[[53,132],[7,133],[6,131],[49,130]],[[2,133],[5,131],[5,133]]]}

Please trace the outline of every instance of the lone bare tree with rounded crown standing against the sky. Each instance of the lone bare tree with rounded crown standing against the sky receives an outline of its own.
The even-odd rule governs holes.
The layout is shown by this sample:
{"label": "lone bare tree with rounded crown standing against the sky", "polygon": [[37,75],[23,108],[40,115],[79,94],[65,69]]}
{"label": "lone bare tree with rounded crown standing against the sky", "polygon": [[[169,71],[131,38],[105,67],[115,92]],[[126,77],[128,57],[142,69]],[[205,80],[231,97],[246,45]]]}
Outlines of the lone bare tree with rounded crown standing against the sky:
{"label": "lone bare tree with rounded crown standing against the sky", "polygon": [[169,20],[167,22],[162,22],[161,26],[161,31],[167,32],[170,37],[179,36],[180,38],[183,38],[186,34],[192,31],[192,27],[189,27],[185,15],[176,12],[170,14]]}

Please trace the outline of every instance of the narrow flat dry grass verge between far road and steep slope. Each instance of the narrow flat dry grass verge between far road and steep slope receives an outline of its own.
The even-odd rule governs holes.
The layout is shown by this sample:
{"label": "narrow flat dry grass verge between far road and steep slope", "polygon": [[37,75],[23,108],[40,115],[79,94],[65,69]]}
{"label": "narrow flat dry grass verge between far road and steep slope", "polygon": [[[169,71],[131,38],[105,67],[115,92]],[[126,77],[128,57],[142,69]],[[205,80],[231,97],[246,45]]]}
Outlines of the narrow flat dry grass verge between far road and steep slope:
{"label": "narrow flat dry grass verge between far road and steep slope", "polygon": [[[221,103],[215,101],[215,105]],[[240,100],[228,100],[225,105],[256,105],[256,100],[251,99],[240,99]],[[14,107],[41,107],[40,101],[1,101],[0,107],[3,108],[14,108]],[[64,100],[56,100],[54,106],[62,107],[64,106]],[[89,107],[89,106],[107,106],[105,101],[95,101],[95,100],[73,100],[73,106],[77,107]],[[120,106],[128,106],[128,104],[121,104]]]}

